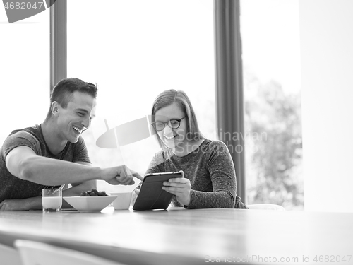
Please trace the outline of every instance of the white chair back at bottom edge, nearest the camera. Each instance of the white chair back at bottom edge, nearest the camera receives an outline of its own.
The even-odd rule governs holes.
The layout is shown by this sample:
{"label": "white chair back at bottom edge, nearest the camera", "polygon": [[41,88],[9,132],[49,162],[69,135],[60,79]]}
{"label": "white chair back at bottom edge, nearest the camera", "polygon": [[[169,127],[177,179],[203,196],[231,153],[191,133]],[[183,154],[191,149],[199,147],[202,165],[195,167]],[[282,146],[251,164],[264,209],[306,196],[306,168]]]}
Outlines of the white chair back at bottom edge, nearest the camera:
{"label": "white chair back at bottom edge, nearest the camera", "polygon": [[123,265],[85,252],[56,247],[42,242],[16,240],[23,265]]}

